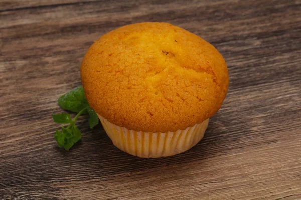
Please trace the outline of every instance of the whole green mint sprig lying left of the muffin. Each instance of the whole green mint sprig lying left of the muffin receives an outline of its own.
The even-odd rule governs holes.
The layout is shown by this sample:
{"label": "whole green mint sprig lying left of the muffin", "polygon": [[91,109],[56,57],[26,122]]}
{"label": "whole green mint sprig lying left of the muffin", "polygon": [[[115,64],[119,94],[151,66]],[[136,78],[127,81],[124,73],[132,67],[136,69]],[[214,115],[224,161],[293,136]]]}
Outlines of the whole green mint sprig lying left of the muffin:
{"label": "whole green mint sprig lying left of the muffin", "polygon": [[60,96],[58,103],[61,108],[77,113],[73,119],[71,119],[68,113],[52,115],[54,122],[69,124],[66,128],[62,126],[61,131],[56,130],[56,134],[54,135],[59,147],[64,147],[68,151],[81,139],[82,133],[75,124],[77,119],[82,114],[89,114],[89,126],[91,129],[99,123],[99,119],[96,112],[90,107],[82,86]]}

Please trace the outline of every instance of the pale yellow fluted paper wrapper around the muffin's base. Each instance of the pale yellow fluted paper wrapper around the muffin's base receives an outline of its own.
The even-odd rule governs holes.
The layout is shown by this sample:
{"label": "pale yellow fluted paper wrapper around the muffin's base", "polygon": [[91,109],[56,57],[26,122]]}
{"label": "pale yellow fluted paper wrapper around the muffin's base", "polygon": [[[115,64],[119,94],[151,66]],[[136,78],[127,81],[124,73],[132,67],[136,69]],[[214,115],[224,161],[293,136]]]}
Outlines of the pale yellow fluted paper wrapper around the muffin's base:
{"label": "pale yellow fluted paper wrapper around the muffin's base", "polygon": [[203,137],[209,119],[175,132],[142,132],[114,125],[98,115],[104,130],[120,150],[143,158],[166,157],[182,153]]}

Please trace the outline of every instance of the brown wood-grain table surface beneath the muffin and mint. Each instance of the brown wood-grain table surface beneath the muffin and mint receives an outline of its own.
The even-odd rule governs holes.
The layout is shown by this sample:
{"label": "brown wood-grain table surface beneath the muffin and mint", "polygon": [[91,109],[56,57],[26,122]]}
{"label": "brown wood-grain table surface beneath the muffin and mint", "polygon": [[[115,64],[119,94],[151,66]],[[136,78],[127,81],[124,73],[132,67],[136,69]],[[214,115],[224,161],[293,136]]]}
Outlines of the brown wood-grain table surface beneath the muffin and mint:
{"label": "brown wood-grain table surface beneath the muffin and mint", "polygon": [[[69,152],[60,95],[88,47],[119,26],[165,21],[212,43],[230,75],[204,139],[142,159],[101,125]],[[301,199],[300,0],[0,0],[0,199]]]}

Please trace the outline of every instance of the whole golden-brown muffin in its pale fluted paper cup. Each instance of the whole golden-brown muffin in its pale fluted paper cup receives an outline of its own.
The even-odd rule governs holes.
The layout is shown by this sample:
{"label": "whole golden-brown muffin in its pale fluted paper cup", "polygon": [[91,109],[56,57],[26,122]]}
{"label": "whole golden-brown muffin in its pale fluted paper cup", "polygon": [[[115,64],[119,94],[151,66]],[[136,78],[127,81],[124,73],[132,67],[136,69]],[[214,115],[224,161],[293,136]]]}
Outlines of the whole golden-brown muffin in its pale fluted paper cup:
{"label": "whole golden-brown muffin in its pale fluted paper cup", "polygon": [[228,90],[222,55],[169,23],[137,23],[96,40],[81,80],[113,144],[138,157],[184,152],[204,136]]}

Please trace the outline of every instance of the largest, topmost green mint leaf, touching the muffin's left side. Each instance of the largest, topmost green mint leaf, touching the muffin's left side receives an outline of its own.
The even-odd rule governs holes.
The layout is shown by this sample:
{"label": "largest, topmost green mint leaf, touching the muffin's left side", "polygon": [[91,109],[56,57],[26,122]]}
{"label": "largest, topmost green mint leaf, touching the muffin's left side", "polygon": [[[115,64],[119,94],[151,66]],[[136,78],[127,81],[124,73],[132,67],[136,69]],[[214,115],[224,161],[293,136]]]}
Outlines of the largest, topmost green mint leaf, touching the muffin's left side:
{"label": "largest, topmost green mint leaf, touching the muffin's left side", "polygon": [[82,86],[79,86],[60,96],[58,103],[61,108],[76,113],[80,112],[89,105],[84,93],[84,88]]}

